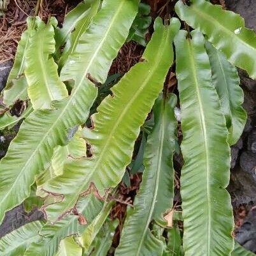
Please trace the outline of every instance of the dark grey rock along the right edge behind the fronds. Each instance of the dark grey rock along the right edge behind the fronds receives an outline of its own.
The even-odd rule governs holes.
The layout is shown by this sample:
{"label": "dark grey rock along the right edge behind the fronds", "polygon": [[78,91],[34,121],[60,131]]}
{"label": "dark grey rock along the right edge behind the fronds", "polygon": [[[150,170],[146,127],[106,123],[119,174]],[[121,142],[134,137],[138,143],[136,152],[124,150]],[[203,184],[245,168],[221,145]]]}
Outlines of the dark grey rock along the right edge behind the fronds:
{"label": "dark grey rock along the right edge behind the fronds", "polygon": [[[228,10],[235,11],[245,18],[245,25],[256,31],[256,1],[255,0],[225,0]],[[241,85],[245,92],[244,107],[248,113],[248,122],[241,141],[234,146],[229,186],[232,203],[256,204],[256,81],[239,71]],[[236,160],[234,160],[236,159]],[[246,249],[256,252],[256,209],[251,210],[243,225],[236,231],[236,240]]]}

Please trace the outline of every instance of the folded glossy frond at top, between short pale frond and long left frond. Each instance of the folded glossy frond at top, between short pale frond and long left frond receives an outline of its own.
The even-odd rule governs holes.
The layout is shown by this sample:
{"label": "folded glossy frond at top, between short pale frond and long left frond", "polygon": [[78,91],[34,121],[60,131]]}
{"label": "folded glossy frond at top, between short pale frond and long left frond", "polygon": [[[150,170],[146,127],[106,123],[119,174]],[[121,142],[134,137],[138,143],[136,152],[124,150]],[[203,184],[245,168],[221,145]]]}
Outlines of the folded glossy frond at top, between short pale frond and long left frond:
{"label": "folded glossy frond at top, between short pale frond and long left frond", "polygon": [[82,2],[78,4],[78,6],[76,6],[76,8],[70,11],[67,15],[62,29],[58,29],[56,31],[56,48],[59,48],[59,45],[62,44],[63,41],[67,41],[65,38],[69,36],[64,50],[61,53],[59,61],[60,67],[66,63],[69,55],[75,52],[76,45],[78,44],[80,37],[88,29],[92,17],[96,15],[98,8],[99,0],[89,0],[85,1],[85,3]]}

